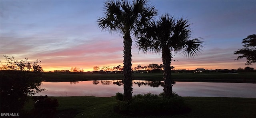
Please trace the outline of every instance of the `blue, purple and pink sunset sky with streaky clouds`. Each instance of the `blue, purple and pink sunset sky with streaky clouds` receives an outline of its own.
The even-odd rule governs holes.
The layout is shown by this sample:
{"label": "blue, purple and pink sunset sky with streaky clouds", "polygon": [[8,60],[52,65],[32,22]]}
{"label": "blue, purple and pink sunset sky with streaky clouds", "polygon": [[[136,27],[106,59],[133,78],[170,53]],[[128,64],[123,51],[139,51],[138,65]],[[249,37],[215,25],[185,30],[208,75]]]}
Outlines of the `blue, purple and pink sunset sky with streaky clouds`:
{"label": "blue, purple and pink sunset sky with streaky clouds", "polygon": [[[0,54],[41,60],[44,71],[123,65],[122,36],[98,28],[105,1],[0,1]],[[175,69],[237,69],[242,39],[256,34],[256,1],[149,1],[175,18],[188,18],[193,38],[204,48],[195,58],[174,54]],[[132,36],[133,37],[133,36]],[[133,39],[132,67],[162,64],[160,54],[138,52]],[[250,65],[256,68],[256,64]]]}

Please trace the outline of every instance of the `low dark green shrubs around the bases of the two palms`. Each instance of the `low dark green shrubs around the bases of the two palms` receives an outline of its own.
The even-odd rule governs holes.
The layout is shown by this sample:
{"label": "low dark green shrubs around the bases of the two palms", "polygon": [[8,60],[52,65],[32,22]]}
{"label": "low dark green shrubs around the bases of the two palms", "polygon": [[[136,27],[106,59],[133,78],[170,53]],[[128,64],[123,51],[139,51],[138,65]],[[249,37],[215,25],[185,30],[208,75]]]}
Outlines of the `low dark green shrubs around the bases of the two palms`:
{"label": "low dark green shrubs around the bases of the two palms", "polygon": [[189,111],[182,97],[162,97],[156,94],[138,94],[129,101],[117,101],[115,112],[128,116],[175,115]]}

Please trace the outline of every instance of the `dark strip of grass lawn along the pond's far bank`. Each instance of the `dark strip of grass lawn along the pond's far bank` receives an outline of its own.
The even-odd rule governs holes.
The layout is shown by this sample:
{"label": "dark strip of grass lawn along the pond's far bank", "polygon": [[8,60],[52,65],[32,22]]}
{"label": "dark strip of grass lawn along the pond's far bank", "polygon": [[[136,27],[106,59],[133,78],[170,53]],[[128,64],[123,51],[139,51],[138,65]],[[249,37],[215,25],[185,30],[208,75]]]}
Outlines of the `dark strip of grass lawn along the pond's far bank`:
{"label": "dark strip of grass lawn along the pond's far bank", "polygon": [[[163,80],[162,73],[133,73],[134,80]],[[43,74],[46,82],[70,82],[85,80],[120,80],[123,74]],[[256,83],[256,72],[230,73],[172,73],[177,82],[237,82]]]}

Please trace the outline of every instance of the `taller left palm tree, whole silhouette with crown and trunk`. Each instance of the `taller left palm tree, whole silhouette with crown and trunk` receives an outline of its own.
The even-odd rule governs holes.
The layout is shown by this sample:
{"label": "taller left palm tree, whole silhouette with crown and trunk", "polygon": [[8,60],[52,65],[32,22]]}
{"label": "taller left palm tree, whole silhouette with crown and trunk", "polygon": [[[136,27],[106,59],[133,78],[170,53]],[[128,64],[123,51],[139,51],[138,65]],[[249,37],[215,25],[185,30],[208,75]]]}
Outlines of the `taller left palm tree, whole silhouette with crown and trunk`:
{"label": "taller left palm tree, whole silhouette with crown and trunk", "polygon": [[102,30],[119,32],[123,36],[124,43],[124,100],[132,99],[132,38],[137,36],[138,29],[144,28],[156,14],[154,6],[147,0],[116,0],[105,2],[105,17],[98,18],[98,26]]}

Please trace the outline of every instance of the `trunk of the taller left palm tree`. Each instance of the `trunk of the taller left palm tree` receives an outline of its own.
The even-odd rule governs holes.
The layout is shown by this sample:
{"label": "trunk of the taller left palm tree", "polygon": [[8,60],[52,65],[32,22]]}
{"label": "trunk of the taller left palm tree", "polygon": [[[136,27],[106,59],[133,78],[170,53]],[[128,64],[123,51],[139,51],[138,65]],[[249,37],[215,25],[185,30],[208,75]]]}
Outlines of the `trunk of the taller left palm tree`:
{"label": "trunk of the taller left palm tree", "polygon": [[124,35],[124,100],[132,99],[132,39],[130,34]]}

